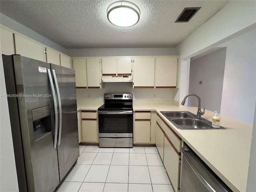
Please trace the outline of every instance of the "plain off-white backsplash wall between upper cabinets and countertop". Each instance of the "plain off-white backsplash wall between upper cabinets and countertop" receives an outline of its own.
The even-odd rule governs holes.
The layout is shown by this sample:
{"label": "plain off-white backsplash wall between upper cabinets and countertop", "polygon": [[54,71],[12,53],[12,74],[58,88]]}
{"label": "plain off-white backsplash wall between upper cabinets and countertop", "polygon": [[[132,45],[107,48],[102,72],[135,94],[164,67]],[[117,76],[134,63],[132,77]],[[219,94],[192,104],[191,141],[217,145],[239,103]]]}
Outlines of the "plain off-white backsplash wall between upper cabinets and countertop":
{"label": "plain off-white backsplash wall between upper cabinets and countertop", "polygon": [[78,100],[103,100],[104,93],[132,93],[134,100],[173,100],[176,88],[132,88],[132,83],[104,83],[102,89],[76,89]]}

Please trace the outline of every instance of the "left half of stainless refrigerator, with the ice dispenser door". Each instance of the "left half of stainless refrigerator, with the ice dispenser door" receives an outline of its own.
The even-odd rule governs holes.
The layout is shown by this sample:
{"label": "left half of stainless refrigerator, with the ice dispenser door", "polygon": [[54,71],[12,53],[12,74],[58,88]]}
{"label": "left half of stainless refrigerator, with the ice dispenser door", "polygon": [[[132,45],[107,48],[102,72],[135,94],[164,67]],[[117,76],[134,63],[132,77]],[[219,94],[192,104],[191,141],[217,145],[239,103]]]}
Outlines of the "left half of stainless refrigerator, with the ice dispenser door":
{"label": "left half of stainless refrigerator, with the ice dispenser door", "polygon": [[[24,150],[24,155],[19,157],[14,151],[17,172],[24,171],[18,167],[26,167],[29,192],[54,191],[60,179],[57,150],[54,149],[54,109],[47,74],[50,64],[20,55],[6,57],[13,57],[13,63],[4,65],[14,68],[14,74],[5,74],[6,81],[8,78],[16,80],[9,91],[18,95],[12,103],[18,114],[9,106],[11,124],[20,122],[19,126],[12,126],[12,134],[15,138],[14,135],[21,132],[20,150]],[[16,140],[13,142],[15,146]]]}

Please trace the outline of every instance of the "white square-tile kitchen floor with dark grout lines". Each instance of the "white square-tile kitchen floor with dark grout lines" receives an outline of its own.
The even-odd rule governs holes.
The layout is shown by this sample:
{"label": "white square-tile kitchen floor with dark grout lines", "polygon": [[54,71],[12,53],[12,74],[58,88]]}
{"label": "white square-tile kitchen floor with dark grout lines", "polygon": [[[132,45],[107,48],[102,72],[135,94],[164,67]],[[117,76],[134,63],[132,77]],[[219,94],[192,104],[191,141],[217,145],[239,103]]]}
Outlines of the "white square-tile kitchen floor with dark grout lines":
{"label": "white square-tile kitchen floor with dark grout lines", "polygon": [[56,192],[174,192],[156,147],[79,148],[76,165]]}

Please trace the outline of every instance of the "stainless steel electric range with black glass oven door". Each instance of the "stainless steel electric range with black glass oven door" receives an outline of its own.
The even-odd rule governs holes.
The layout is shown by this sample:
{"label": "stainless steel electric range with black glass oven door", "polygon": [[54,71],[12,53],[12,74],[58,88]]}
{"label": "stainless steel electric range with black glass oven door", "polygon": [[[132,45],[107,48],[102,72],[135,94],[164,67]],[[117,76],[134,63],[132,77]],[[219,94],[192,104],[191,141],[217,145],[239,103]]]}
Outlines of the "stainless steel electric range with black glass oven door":
{"label": "stainless steel electric range with black glass oven door", "polygon": [[133,147],[131,93],[105,93],[98,108],[100,147]]}

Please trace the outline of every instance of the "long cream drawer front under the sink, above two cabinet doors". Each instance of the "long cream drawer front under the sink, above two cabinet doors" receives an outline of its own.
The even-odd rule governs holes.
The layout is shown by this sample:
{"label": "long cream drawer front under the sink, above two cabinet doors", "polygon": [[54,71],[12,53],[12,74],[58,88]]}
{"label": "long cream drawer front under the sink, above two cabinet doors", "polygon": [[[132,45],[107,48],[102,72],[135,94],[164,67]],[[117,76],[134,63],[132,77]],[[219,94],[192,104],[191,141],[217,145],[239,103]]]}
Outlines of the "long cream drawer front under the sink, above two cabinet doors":
{"label": "long cream drawer front under the sink, above two cabinet doors", "polygon": [[172,128],[157,114],[156,121],[164,130],[165,134],[172,141],[178,152],[181,150],[181,138],[172,130]]}

